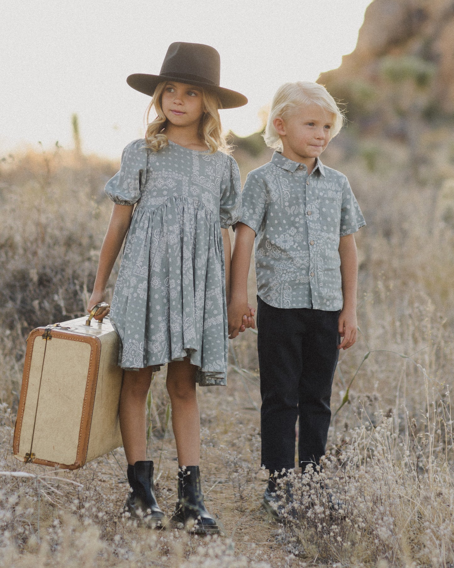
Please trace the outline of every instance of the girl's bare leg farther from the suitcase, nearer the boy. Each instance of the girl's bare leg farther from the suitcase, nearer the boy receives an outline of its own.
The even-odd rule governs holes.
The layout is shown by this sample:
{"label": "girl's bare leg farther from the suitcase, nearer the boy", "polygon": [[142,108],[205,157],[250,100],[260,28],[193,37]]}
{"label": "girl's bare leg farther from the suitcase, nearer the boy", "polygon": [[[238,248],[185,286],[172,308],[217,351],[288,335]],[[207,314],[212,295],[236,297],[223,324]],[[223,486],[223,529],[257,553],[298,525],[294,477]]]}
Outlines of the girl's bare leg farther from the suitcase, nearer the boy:
{"label": "girl's bare leg farther from the suitcase, nearer the boy", "polygon": [[179,466],[199,465],[200,414],[195,389],[196,367],[187,360],[167,366],[167,392],[172,405],[172,427]]}

